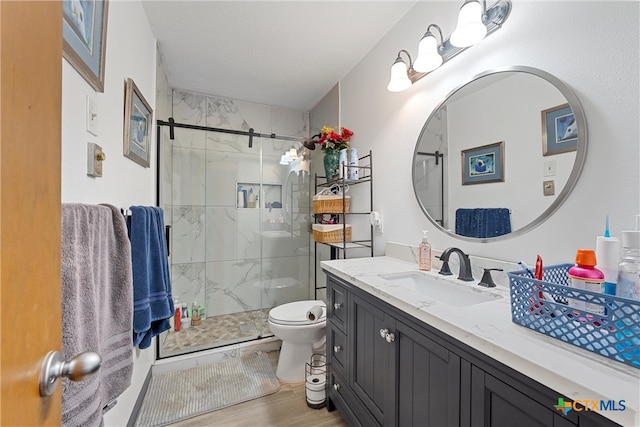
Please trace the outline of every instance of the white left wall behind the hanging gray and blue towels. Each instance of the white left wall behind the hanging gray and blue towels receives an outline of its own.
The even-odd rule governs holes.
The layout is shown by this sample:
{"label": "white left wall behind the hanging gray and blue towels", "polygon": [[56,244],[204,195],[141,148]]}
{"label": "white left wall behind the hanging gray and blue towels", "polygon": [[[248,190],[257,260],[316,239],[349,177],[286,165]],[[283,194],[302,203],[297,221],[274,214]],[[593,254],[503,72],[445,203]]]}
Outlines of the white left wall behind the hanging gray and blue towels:
{"label": "white left wall behind the hanging gray and blue towels", "polygon": [[[156,42],[142,4],[109,2],[104,93],[96,93],[69,63],[62,62],[62,202],[155,205],[155,135],[150,168],[122,155],[126,79],[131,77],[148,103],[155,105]],[[98,106],[98,136],[86,131],[87,95]],[[106,154],[102,178],[86,175],[87,142],[102,146]],[[152,348],[134,351],[132,385],[105,415],[106,425],[127,423],[154,360]]]}

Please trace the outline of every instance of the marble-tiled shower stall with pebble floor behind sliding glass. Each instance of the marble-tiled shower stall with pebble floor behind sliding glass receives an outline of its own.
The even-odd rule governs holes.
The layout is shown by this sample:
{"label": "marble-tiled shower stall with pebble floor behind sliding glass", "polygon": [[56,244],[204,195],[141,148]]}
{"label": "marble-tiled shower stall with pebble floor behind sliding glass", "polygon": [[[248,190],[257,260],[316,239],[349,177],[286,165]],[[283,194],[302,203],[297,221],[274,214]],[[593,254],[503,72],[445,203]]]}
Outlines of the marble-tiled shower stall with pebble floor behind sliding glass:
{"label": "marble-tiled shower stall with pebble floor behind sliding glass", "polygon": [[158,121],[157,135],[173,296],[204,313],[162,334],[158,357],[272,336],[269,310],[312,296],[301,138],[172,119]]}

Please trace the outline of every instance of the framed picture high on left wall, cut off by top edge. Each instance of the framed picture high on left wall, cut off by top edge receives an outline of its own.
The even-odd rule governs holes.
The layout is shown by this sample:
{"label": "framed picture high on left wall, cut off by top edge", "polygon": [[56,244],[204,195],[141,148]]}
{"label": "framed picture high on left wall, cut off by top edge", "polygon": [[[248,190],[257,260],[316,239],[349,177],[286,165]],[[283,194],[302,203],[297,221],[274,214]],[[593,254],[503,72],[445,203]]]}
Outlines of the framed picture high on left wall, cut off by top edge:
{"label": "framed picture high on left wall, cut off by top edge", "polygon": [[62,56],[97,92],[104,92],[108,0],[63,0]]}

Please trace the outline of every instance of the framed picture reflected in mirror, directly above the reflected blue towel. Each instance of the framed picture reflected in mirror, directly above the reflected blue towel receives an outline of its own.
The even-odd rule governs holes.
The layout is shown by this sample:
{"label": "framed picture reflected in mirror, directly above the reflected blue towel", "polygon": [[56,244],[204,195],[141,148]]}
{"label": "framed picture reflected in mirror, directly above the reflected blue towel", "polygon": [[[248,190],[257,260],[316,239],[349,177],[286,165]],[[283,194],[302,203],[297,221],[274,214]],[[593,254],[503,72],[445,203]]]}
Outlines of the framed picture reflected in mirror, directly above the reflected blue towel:
{"label": "framed picture reflected in mirror, directly above the reflected blue towel", "polygon": [[504,141],[461,153],[462,185],[504,181]]}

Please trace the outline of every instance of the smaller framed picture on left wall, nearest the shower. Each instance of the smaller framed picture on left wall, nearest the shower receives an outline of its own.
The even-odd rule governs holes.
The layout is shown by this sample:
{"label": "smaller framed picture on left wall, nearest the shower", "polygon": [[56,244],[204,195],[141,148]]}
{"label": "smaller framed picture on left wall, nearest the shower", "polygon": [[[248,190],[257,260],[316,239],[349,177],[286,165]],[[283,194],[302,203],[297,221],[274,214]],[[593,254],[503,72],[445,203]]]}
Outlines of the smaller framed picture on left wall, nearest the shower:
{"label": "smaller framed picture on left wall, nearest the shower", "polygon": [[124,95],[124,155],[149,167],[153,110],[133,82],[127,79]]}

